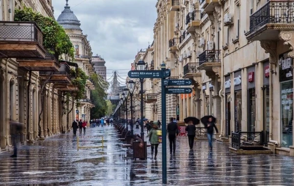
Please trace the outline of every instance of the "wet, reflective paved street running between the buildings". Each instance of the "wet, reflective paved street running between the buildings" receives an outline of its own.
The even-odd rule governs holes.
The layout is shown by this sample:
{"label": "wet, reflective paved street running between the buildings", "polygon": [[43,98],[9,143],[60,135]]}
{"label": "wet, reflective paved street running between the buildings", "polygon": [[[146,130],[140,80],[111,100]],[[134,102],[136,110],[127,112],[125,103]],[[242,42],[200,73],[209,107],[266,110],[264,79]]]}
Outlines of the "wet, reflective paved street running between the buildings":
{"label": "wet, reflective paved street running between the buildings", "polygon": [[[147,161],[133,161],[132,150],[122,147],[112,126],[87,128],[80,145],[101,145],[101,138],[93,136],[104,137],[103,150],[77,151],[71,132],[23,146],[17,158],[10,158],[11,152],[0,154],[0,185],[161,186],[161,145],[156,161],[150,159],[150,147]],[[210,151],[206,140],[195,141],[194,150],[189,151],[187,137],[178,137],[176,155],[168,153],[167,185],[294,185],[291,157],[236,155],[228,151],[227,144],[213,145]],[[136,175],[132,179],[131,170]]]}

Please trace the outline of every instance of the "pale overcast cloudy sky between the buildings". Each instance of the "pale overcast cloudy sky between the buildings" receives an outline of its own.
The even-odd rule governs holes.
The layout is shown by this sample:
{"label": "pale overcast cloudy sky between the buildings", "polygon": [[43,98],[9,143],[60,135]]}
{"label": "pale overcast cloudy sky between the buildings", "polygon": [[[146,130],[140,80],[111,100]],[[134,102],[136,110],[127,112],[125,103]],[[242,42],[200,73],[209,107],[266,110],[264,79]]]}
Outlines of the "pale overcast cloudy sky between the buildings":
{"label": "pale overcast cloudy sky between the buildings", "polygon": [[[130,69],[138,49],[153,41],[157,0],[69,0],[84,34],[92,46],[93,55],[106,61],[107,79],[112,70],[123,78]],[[52,0],[57,19],[66,0]]]}

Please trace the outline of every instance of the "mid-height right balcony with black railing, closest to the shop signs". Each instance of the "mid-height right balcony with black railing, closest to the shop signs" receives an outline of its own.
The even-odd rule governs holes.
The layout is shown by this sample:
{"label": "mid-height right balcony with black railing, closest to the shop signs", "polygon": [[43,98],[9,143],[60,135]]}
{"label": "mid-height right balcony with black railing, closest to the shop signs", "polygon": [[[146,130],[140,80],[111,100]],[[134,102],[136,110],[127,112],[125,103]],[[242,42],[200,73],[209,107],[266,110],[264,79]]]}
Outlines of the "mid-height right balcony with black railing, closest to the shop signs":
{"label": "mid-height right balcony with black railing, closest to the shop signs", "polygon": [[206,75],[213,79],[221,77],[221,50],[205,50],[199,54],[199,70],[205,70]]}

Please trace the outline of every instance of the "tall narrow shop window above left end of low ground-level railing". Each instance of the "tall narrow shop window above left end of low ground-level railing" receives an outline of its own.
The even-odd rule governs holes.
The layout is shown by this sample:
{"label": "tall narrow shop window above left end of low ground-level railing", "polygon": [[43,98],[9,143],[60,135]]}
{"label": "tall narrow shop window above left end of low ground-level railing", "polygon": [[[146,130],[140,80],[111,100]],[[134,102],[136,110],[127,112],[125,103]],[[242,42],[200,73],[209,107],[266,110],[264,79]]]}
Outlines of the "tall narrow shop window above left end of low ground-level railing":
{"label": "tall narrow shop window above left end of low ground-level railing", "polygon": [[235,132],[241,131],[242,92],[235,93]]}

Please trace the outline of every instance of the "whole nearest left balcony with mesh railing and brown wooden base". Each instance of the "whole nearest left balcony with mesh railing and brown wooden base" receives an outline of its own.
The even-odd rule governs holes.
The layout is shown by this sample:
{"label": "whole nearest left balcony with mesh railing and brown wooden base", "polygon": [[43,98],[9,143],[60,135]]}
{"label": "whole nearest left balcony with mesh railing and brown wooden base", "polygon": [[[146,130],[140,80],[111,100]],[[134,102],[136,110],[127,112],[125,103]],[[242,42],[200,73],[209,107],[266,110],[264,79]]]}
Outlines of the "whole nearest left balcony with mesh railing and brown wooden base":
{"label": "whole nearest left balcony with mesh railing and brown wooden base", "polygon": [[0,22],[0,57],[45,58],[43,34],[36,23]]}

